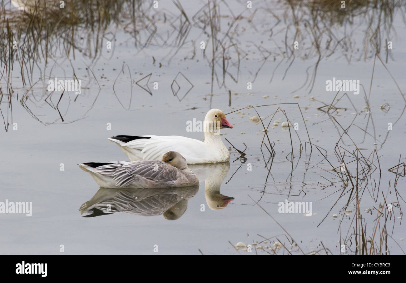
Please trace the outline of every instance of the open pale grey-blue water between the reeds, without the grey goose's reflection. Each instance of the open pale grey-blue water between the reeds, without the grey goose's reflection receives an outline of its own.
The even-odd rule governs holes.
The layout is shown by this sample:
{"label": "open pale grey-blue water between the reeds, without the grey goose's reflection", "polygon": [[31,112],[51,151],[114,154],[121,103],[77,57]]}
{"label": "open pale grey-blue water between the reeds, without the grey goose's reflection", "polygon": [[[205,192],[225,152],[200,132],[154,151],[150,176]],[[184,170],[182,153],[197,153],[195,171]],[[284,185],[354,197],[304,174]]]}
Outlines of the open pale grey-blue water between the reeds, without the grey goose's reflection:
{"label": "open pale grey-blue water between the reeds, without the grey goose's reflection", "polygon": [[[222,48],[219,47],[215,55],[218,58],[215,67],[218,78],[214,76],[212,91],[212,70],[209,65],[212,59],[212,43],[211,39],[208,40],[211,34],[210,26],[206,26],[203,31],[199,28],[203,25],[202,23],[192,21],[192,16],[206,2],[199,2],[199,4],[180,2],[191,21],[190,32],[181,40],[176,37],[176,30],[174,32],[173,27],[167,22],[164,23],[163,16],[165,12],[168,18],[175,21],[180,14],[179,10],[172,2],[160,2],[159,9],[162,10],[151,8],[146,12],[151,17],[158,13],[155,15],[154,22],[157,31],[150,41],[147,41],[148,37],[144,29],[137,38],[140,42],[135,46],[134,37],[127,26],[130,19],[127,15],[122,15],[122,22],[117,27],[114,24],[108,26],[105,32],[108,39],[113,36],[108,33],[109,31],[115,35],[117,40],[112,41],[114,48],[112,50],[105,48],[107,40],[105,38],[102,43],[104,47],[99,50],[100,56],[97,56],[94,61],[83,54],[89,54],[84,50],[82,53],[76,50],[75,59],[72,53],[67,56],[61,52],[62,55],[59,54],[54,58],[56,65],[53,65],[54,61],[49,60],[48,65],[45,66],[45,60],[41,60],[32,73],[32,84],[39,80],[33,87],[22,85],[18,64],[14,66],[12,122],[17,123],[17,130],[13,130],[11,115],[9,115],[8,131],[3,129],[0,133],[0,201],[8,199],[32,202],[33,214],[31,217],[23,214],[0,214],[3,231],[0,234],[0,241],[3,243],[0,253],[58,254],[60,245],[63,244],[65,253],[69,254],[153,254],[154,245],[158,245],[159,254],[198,254],[199,249],[204,254],[236,254],[237,251],[228,241],[233,244],[237,242],[251,244],[253,241],[263,240],[259,235],[267,238],[279,235],[277,238],[289,246],[289,240],[281,235],[285,232],[255,205],[253,200],[259,201],[258,204],[292,235],[305,253],[319,250],[320,241],[332,253],[340,253],[338,243],[340,233],[337,233],[339,221],[342,221],[341,239],[343,239],[348,229],[354,225],[352,217],[355,213],[355,201],[352,198],[348,205],[348,209],[352,209],[352,213],[349,213],[351,218],[342,218],[340,213],[343,213],[343,207],[348,200],[349,188],[345,189],[344,196],[337,201],[343,190],[342,182],[332,174],[331,166],[317,149],[313,148],[311,157],[307,157],[307,160],[310,160],[309,164],[306,164],[305,152],[300,154],[300,142],[296,133],[303,146],[305,146],[304,142],[308,141],[308,137],[300,111],[294,104],[280,106],[286,111],[293,124],[298,122],[299,128],[296,133],[291,128],[295,157],[293,166],[288,160],[290,157],[286,158],[291,148],[289,131],[284,131],[280,124],[272,128],[271,123],[268,135],[275,143],[276,156],[269,171],[270,154],[264,146],[263,154],[260,150],[263,138],[262,126],[250,121],[251,117],[257,115],[253,109],[244,109],[227,115],[227,119],[234,128],[223,130],[222,133],[225,135],[222,138],[227,146],[230,145],[224,138],[239,150],[245,150],[247,158],[245,163],[238,159],[240,156],[238,152],[231,149],[229,170],[228,165],[224,164],[197,168],[202,176],[199,190],[192,196],[179,197],[179,201],[183,201],[178,205],[180,210],[183,211],[185,206],[187,207],[179,219],[167,220],[162,215],[145,217],[126,212],[115,212],[112,215],[92,218],[81,216],[80,206],[89,201],[99,187],[89,174],[80,170],[77,164],[90,161],[126,160],[123,152],[117,145],[108,141],[108,137],[119,134],[153,134],[182,135],[203,139],[203,133],[187,132],[186,123],[193,118],[203,120],[210,108],[222,109],[225,113],[229,113],[248,105],[297,102],[300,104],[304,119],[307,120],[311,142],[327,150],[328,159],[335,167],[341,165],[333,152],[343,130],[329,119],[326,113],[317,108],[330,104],[333,100],[336,93],[325,90],[326,80],[331,80],[333,77],[359,80],[366,90],[366,97],[369,96],[374,56],[369,54],[370,46],[365,60],[362,55],[362,40],[365,36],[366,24],[358,26],[361,22],[360,17],[355,17],[354,24],[346,24],[345,27],[337,26],[336,22],[330,26],[337,38],[341,39],[343,34],[347,33],[348,38],[345,42],[346,44],[351,42],[352,45],[347,53],[345,48],[340,46],[333,55],[327,57],[330,52],[324,48],[328,37],[323,37],[323,58],[318,64],[313,89],[309,94],[310,87],[306,88],[307,85],[301,89],[300,87],[306,82],[307,68],[317,62],[318,55],[314,48],[301,49],[300,47],[294,63],[283,79],[291,61],[283,52],[286,50],[285,31],[288,24],[292,25],[292,18],[288,17],[286,23],[284,21],[278,23],[269,11],[258,9],[253,20],[249,22],[248,18],[259,7],[247,9],[243,13],[243,18],[233,24],[231,33],[235,31],[235,34],[230,39],[225,37],[225,33],[229,24],[232,23],[232,14],[224,3],[218,3],[223,17],[221,31],[217,37],[226,38],[223,41],[225,47],[236,44],[241,54],[246,52],[246,57],[240,55],[238,71],[236,65],[233,65],[238,64],[235,49],[230,48],[230,53],[226,53],[225,57],[229,60],[226,60],[225,64],[228,64],[229,74],[226,73],[224,86],[222,85]],[[235,16],[245,10],[244,1],[232,2],[229,6],[232,7]],[[284,2],[276,4],[270,1],[255,3],[255,5],[271,9],[272,13],[281,18],[287,9]],[[278,8],[274,9],[274,7]],[[304,13],[304,10],[298,9],[298,14],[300,11]],[[402,11],[399,9],[396,11],[393,18],[393,29],[396,33],[393,30],[390,33],[394,48],[390,51],[387,68],[404,93],[406,56],[401,46],[404,46],[405,24],[402,21]],[[179,29],[180,23],[176,20],[174,26]],[[274,25],[276,27],[271,36],[270,28]],[[288,32],[288,38],[293,41],[294,29],[291,26],[289,28],[291,31]],[[354,35],[350,36],[349,30],[352,30]],[[79,31],[81,37],[87,38],[88,35],[90,38],[96,37],[96,33],[91,30],[79,29]],[[302,32],[304,33],[304,30]],[[387,38],[387,35],[382,36],[382,40],[383,38]],[[164,44],[164,41],[167,43]],[[200,49],[201,41],[205,41],[205,56]],[[300,40],[300,44],[309,46],[311,41],[311,37],[306,35]],[[179,47],[179,43],[183,45]],[[144,45],[145,48],[141,48]],[[260,47],[262,54],[255,45],[262,46]],[[86,46],[86,40],[78,40],[78,46],[80,48]],[[292,45],[288,44],[288,46],[292,48]],[[176,52],[177,47],[179,50]],[[265,49],[270,52],[270,55]],[[350,63],[346,55],[347,58],[351,57]],[[267,61],[261,67],[263,57],[267,56],[269,56]],[[380,57],[384,61],[385,56],[386,54],[381,50]],[[275,70],[281,60],[281,65]],[[352,123],[352,119],[356,116],[352,113],[358,113],[349,134],[358,148],[362,148],[367,158],[371,159],[370,153],[374,149],[379,156],[382,169],[380,191],[373,191],[374,185],[371,185],[374,184],[374,179],[378,183],[378,170],[374,172],[363,192],[360,205],[363,219],[367,223],[368,236],[372,234],[371,229],[377,213],[374,210],[371,215],[364,211],[378,207],[379,203],[383,202],[382,192],[388,203],[395,203],[397,199],[401,205],[403,203],[400,197],[396,197],[393,189],[396,175],[388,169],[399,163],[400,155],[402,155],[400,163],[405,161],[406,156],[404,152],[406,120],[402,114],[405,107],[404,99],[382,63],[376,59],[375,64],[369,105],[376,139],[368,134],[364,135],[365,133],[355,126],[363,129],[367,127],[367,132],[374,135],[371,120],[368,120],[370,118],[368,109],[363,109],[366,102],[362,89],[358,95],[349,93],[355,109],[347,98],[342,98],[335,106],[347,108],[347,110],[340,110],[338,115],[333,113],[343,128],[347,128]],[[86,70],[86,65],[91,67],[97,81],[93,74]],[[52,103],[54,105],[58,103],[60,92],[55,92],[51,98],[48,98],[47,101],[50,104],[45,102],[45,98],[49,95],[46,89],[47,81],[48,77],[71,78],[72,66],[78,79],[82,80],[82,94],[76,101],[74,101],[73,92],[65,93],[61,98],[58,109],[64,119],[62,122],[58,111],[50,106]],[[261,69],[256,76],[259,67]],[[120,70],[124,70],[124,73],[119,75]],[[190,85],[181,75],[178,76],[177,83],[181,88],[177,96],[179,99],[183,98],[181,101],[171,91],[171,84],[178,72],[184,74],[193,85],[190,92],[183,98]],[[311,77],[313,68],[307,72]],[[152,96],[136,85],[136,81],[150,73],[152,75],[148,87]],[[238,82],[236,83],[233,78],[238,78]],[[114,81],[116,81],[115,84]],[[5,78],[3,77],[0,82],[2,91],[5,93],[7,89]],[[153,82],[158,83],[158,89],[153,89]],[[252,89],[247,89],[247,82],[253,82]],[[146,83],[147,78],[139,84],[144,86]],[[299,90],[292,93],[296,89]],[[231,106],[229,106],[228,90],[231,91]],[[296,95],[298,98],[294,97]],[[264,96],[268,98],[263,98]],[[341,96],[342,93],[337,98]],[[314,97],[314,101],[311,97]],[[6,96],[3,97],[0,107],[7,121],[5,101]],[[385,103],[390,105],[387,113],[380,109],[380,106]],[[259,107],[257,111],[261,117],[266,118],[276,109],[277,106]],[[267,124],[269,119],[265,120]],[[282,123],[286,119],[279,112],[276,113],[272,122],[274,120],[280,120]],[[388,133],[388,123],[394,124],[396,121],[393,130]],[[111,130],[107,129],[108,123],[111,124]],[[267,141],[267,138],[265,140]],[[375,142],[376,145],[374,145]],[[339,145],[350,152],[355,149],[348,137],[344,138],[344,144],[339,143]],[[340,150],[343,151],[343,148]],[[307,150],[309,155],[309,144],[307,144]],[[324,151],[322,153],[325,154]],[[347,160],[349,161],[350,159]],[[60,163],[64,164],[64,171],[60,171]],[[248,164],[252,165],[252,170],[248,170]],[[348,167],[355,170],[354,164],[355,162],[350,163]],[[330,181],[322,176],[333,181],[334,184],[331,185]],[[221,187],[210,185],[207,178],[212,178],[221,184]],[[391,180],[391,187],[389,187],[389,180]],[[404,176],[397,180],[397,190],[404,199]],[[377,194],[378,202],[374,202],[372,197]],[[224,209],[212,210],[210,204],[211,201],[218,201],[216,196],[232,197],[234,200],[231,200]],[[285,199],[312,202],[313,215],[306,217],[303,213],[278,213],[278,202],[285,202]],[[202,207],[205,208],[204,211],[201,211]],[[400,210],[394,207],[393,212],[391,220],[388,221],[390,227],[388,231],[393,239],[389,239],[388,244],[392,254],[400,254],[402,253],[400,247],[403,250],[406,248],[404,241],[401,240],[405,237],[405,229],[401,219],[398,218]],[[338,214],[339,217],[333,218],[333,214]],[[322,222],[325,217],[326,219]],[[393,231],[392,227],[394,227]],[[276,238],[272,238],[272,242],[274,240],[276,241]],[[269,241],[264,245],[270,246]],[[353,253],[354,246],[351,248]],[[294,251],[298,253],[296,249]],[[243,251],[240,253],[250,254]],[[259,253],[265,252],[259,251]],[[283,249],[278,253],[283,253]]]}

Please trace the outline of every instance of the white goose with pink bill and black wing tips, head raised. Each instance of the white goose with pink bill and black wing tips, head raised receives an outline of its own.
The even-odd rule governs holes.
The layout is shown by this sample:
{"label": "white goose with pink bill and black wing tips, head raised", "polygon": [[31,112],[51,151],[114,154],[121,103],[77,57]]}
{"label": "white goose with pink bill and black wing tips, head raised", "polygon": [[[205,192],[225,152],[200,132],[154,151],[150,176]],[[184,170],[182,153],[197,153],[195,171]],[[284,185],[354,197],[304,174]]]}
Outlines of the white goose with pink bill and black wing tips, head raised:
{"label": "white goose with pink bill and black wing tips, head raised", "polygon": [[110,137],[130,160],[160,160],[168,150],[179,152],[188,164],[227,162],[230,153],[223,144],[220,128],[233,128],[223,111],[211,109],[204,121],[204,142],[182,136],[129,136]]}

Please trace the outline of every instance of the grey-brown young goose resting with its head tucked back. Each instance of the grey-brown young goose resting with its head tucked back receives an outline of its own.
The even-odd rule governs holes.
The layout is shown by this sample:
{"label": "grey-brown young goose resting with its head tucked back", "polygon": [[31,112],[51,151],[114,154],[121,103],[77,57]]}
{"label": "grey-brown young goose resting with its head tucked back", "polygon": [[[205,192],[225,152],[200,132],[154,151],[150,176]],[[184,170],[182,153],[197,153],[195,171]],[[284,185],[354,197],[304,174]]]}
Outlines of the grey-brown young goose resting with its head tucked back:
{"label": "grey-brown young goose resting with its head tucked back", "polygon": [[166,152],[162,161],[139,160],[107,163],[82,163],[79,167],[91,174],[100,187],[155,189],[199,185],[179,152]]}

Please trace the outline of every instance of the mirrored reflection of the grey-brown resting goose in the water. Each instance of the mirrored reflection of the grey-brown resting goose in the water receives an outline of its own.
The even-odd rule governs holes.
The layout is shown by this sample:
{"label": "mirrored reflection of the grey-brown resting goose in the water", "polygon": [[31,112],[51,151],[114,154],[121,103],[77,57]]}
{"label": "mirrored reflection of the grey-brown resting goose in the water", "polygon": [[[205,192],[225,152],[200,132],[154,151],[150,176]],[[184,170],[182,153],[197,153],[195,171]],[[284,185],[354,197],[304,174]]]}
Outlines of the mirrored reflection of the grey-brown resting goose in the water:
{"label": "mirrored reflection of the grey-brown resting goose in the water", "polygon": [[179,219],[188,207],[199,186],[178,189],[110,189],[100,188],[80,207],[84,217],[114,212],[127,212],[141,216],[163,215],[168,220]]}

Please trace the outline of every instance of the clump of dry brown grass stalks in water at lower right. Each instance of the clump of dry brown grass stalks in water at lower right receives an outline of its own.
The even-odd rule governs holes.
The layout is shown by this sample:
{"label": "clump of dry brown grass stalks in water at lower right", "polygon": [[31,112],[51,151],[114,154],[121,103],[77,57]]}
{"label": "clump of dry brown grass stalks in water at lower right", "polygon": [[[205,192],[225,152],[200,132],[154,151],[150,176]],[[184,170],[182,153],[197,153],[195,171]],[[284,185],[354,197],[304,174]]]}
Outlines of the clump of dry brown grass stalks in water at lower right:
{"label": "clump of dry brown grass stalks in water at lower right", "polygon": [[[384,65],[387,72],[393,78],[393,76],[391,75],[391,73],[389,72],[383,61],[380,59],[378,54],[376,54],[375,58],[378,58],[380,60],[380,62]],[[369,95],[371,93],[373,74],[374,70],[371,76]],[[404,114],[404,111],[406,109],[406,100],[404,94],[398,87],[397,82],[395,80],[394,84],[399,89],[400,96],[405,101],[403,111],[402,113],[400,113],[399,117],[394,123],[396,124]],[[370,96],[367,95],[364,88],[363,91],[366,104],[368,105],[368,109],[370,109],[369,107]],[[346,205],[342,208],[344,212],[342,213],[342,218],[339,222],[338,233],[340,234],[340,245],[344,245],[343,246],[345,248],[344,253],[352,253],[358,255],[389,254],[390,253],[389,241],[392,241],[395,244],[397,244],[396,240],[393,239],[393,237],[391,236],[393,234],[395,224],[397,224],[396,219],[402,219],[403,216],[401,201],[403,202],[405,201],[397,189],[397,181],[401,176],[404,176],[405,165],[404,163],[400,162],[401,159],[399,158],[398,165],[395,165],[392,168],[387,169],[390,172],[395,173],[395,178],[393,180],[393,184],[391,183],[392,179],[389,180],[386,190],[382,189],[381,188],[383,185],[381,182],[382,168],[379,161],[377,150],[374,149],[371,152],[369,152],[369,155],[365,155],[363,153],[365,152],[365,149],[360,148],[356,144],[354,139],[352,139],[349,133],[349,129],[355,126],[356,129],[358,130],[358,133],[360,131],[361,133],[364,133],[364,138],[365,135],[369,135],[374,139],[374,141],[378,141],[376,138],[374,120],[372,118],[371,110],[368,111],[367,121],[368,122],[371,121],[371,124],[373,126],[373,133],[369,133],[369,131],[367,130],[368,122],[366,124],[365,129],[354,124],[355,117],[347,128],[343,128],[343,126],[339,123],[336,117],[332,115],[332,113],[337,110],[337,107],[335,106],[337,104],[337,100],[335,99],[337,97],[337,94],[330,104],[326,104],[320,107],[319,110],[327,113],[327,115],[337,126],[339,131],[342,132],[342,134],[335,144],[334,152],[332,155],[327,155],[327,152],[323,154],[323,152],[320,150],[318,146],[316,146],[316,148],[332,167],[332,171],[330,171],[329,173],[335,174],[342,183],[341,194],[337,199],[337,201],[335,202],[335,204],[333,205],[333,207],[335,207],[337,202],[342,197],[349,194],[348,199],[346,201]],[[352,107],[354,107],[354,104],[352,103],[350,96],[344,94],[342,97],[344,96],[348,99]],[[350,141],[350,143],[346,145],[344,139],[347,139],[348,141]],[[383,142],[381,144],[383,144]],[[336,160],[335,161],[329,160],[331,156],[335,157]],[[392,190],[395,192],[396,201],[388,202],[387,198],[389,194],[392,194],[391,192]],[[370,196],[369,200],[365,200],[365,198],[367,198],[368,195]],[[374,220],[375,224],[370,228],[367,227],[367,220],[363,216],[364,211],[363,209],[361,209],[361,207],[364,206],[363,205],[364,202],[371,200],[374,203],[376,203],[376,205],[373,206],[372,208],[367,209],[365,212],[370,213],[371,215],[375,212],[376,218]],[[351,222],[349,223],[348,228],[346,229],[344,228],[345,224],[343,222],[343,219],[344,217],[346,217],[345,213],[347,212],[348,207],[350,207],[351,203],[354,205],[355,213],[352,216],[352,219],[350,219]],[[331,207],[331,209],[333,209],[333,207]],[[348,211],[350,210],[351,209],[349,209]],[[327,213],[327,215],[330,213],[330,211]],[[322,222],[324,221],[324,219],[322,220]],[[390,226],[391,229],[389,228]],[[397,244],[397,246],[399,246],[399,244]]]}

